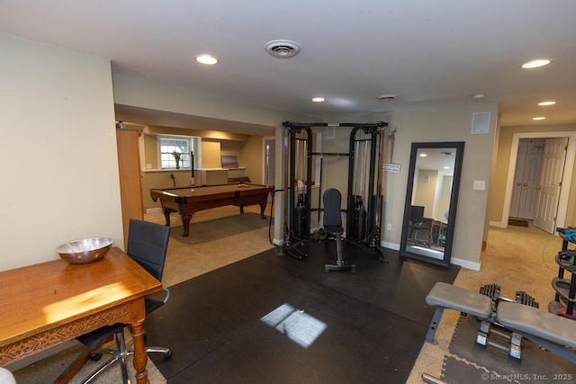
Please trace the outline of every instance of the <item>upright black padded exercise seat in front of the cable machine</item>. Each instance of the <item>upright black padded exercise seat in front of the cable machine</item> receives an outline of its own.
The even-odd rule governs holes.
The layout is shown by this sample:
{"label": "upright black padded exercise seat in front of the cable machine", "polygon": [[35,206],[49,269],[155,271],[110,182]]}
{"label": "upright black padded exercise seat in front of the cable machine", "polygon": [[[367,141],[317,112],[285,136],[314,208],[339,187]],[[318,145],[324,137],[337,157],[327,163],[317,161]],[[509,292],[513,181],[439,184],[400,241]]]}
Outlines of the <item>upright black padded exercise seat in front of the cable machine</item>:
{"label": "upright black padded exercise seat in front of the cable machine", "polygon": [[325,264],[324,271],[348,271],[356,272],[356,265],[345,264],[342,260],[342,234],[344,228],[342,227],[342,211],[340,205],[342,203],[342,195],[335,188],[329,188],[322,195],[324,201],[324,218],[323,227],[330,236],[336,237],[336,264]]}

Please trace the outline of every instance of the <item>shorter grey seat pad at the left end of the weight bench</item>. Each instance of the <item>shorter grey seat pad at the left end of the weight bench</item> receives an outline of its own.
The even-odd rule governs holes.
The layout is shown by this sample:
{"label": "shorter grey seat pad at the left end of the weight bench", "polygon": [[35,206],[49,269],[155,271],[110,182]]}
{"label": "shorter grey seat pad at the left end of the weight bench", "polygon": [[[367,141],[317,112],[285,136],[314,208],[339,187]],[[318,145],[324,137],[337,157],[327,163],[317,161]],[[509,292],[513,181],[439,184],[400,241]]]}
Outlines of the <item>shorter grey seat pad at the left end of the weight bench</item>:
{"label": "shorter grey seat pad at the left end of the weight bench", "polygon": [[431,306],[455,309],[481,318],[490,317],[492,311],[492,300],[488,296],[440,281],[434,284],[426,302]]}

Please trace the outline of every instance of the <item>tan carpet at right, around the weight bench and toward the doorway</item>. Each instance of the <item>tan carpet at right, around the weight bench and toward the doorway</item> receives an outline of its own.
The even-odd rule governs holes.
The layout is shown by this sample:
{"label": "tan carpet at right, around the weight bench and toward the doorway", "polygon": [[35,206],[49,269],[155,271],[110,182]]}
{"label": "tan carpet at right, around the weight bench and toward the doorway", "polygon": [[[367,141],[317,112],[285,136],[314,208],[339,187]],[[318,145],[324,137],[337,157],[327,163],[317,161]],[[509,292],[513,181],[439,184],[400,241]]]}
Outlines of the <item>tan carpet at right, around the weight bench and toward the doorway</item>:
{"label": "tan carpet at right, around the weight bench and toward the doorway", "polygon": [[[500,296],[509,299],[515,298],[517,290],[524,290],[541,309],[548,310],[548,303],[554,299],[552,280],[558,274],[554,256],[561,249],[560,237],[534,227],[532,222],[528,228],[490,228],[488,247],[481,255],[481,270],[461,268],[454,285],[478,292],[483,285],[496,283],[501,287]],[[444,312],[435,337],[438,344],[423,344],[409,383],[421,383],[423,373],[441,378],[445,357],[459,359],[449,351],[459,317],[458,311]],[[478,382],[482,379],[478,378]]]}

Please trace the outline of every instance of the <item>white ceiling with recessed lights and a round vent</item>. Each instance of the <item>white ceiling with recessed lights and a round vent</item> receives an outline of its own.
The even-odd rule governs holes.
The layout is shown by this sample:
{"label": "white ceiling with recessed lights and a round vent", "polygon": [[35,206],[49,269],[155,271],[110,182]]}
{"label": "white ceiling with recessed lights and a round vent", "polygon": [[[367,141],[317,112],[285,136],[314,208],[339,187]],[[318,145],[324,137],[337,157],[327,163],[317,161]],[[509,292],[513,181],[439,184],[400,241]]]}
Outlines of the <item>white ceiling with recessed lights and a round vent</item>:
{"label": "white ceiling with recessed lights and a round vent", "polygon": [[[482,93],[500,103],[504,126],[576,122],[575,20],[574,0],[0,1],[1,32],[110,58],[119,74],[313,116],[474,103]],[[272,58],[264,45],[276,39],[302,52]],[[199,53],[220,64],[195,64]],[[519,69],[534,58],[554,61]],[[315,95],[326,102],[311,103]]]}

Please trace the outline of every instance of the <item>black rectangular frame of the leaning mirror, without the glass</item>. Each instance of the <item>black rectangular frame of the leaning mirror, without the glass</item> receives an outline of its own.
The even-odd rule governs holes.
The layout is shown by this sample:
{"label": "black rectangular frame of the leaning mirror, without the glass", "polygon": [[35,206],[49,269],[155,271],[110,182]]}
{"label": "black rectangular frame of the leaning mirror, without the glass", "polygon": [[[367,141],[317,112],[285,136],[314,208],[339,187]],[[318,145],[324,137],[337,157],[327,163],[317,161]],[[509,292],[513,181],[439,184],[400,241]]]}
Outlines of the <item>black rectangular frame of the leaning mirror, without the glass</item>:
{"label": "black rectangular frame of the leaning mirror, without the glass", "polygon": [[[414,187],[414,174],[416,172],[416,160],[418,150],[421,148],[455,148],[454,178],[452,191],[450,192],[450,207],[448,210],[448,226],[446,227],[446,244],[444,258],[436,259],[425,255],[415,254],[406,250],[408,240],[408,224],[410,220],[410,206],[412,205],[412,189]],[[406,189],[406,201],[404,203],[404,219],[402,222],[402,235],[400,256],[402,259],[414,259],[420,262],[432,263],[443,267],[450,267],[452,257],[452,243],[456,220],[456,206],[458,205],[458,192],[460,190],[460,178],[462,175],[462,162],[464,159],[464,141],[420,142],[412,143],[410,151],[410,169],[408,171],[408,185]]]}

